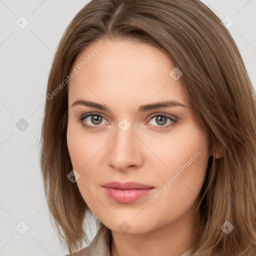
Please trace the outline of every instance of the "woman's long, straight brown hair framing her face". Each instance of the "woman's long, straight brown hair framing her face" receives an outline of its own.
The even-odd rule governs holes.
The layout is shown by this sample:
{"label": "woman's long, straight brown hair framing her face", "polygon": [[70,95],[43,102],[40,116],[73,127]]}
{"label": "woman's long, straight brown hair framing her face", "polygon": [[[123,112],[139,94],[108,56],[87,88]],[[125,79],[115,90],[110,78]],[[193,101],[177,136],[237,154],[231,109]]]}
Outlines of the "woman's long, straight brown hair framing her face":
{"label": "woman's long, straight brown hair framing her face", "polygon": [[[199,0],[91,0],[72,19],[58,45],[41,131],[45,195],[70,254],[80,249],[84,238],[88,241],[83,222],[86,213],[91,214],[76,183],[67,178],[72,170],[66,142],[70,68],[81,50],[97,40],[114,38],[166,51],[183,73],[209,149],[221,145],[224,150],[223,157],[209,158],[194,215],[192,253],[256,253],[256,100],[228,29]],[[234,227],[228,234],[221,228],[225,221]]]}

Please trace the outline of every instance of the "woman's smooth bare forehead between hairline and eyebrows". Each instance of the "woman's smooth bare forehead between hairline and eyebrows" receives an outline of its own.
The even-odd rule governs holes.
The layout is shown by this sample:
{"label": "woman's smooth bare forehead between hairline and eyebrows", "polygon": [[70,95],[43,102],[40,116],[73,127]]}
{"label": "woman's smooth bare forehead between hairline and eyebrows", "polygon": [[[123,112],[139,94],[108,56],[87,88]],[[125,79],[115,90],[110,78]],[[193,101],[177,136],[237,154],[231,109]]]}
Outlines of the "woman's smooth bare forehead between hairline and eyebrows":
{"label": "woman's smooth bare forehead between hairline and eyebrows", "polygon": [[[69,96],[90,94],[127,100],[179,99],[188,104],[181,79],[173,79],[174,62],[164,50],[128,40],[98,41],[83,49],[72,69]],[[94,94],[94,95],[92,95]],[[75,99],[76,99],[75,98]],[[124,101],[123,101],[124,102]]]}

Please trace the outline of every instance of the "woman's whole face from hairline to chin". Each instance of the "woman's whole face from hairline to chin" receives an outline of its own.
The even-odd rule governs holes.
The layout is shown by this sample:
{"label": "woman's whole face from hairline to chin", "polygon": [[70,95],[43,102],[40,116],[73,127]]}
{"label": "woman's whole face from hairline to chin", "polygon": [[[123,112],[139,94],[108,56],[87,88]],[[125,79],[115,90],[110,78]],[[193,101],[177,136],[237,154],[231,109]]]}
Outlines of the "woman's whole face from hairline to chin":
{"label": "woman's whole face from hairline to chin", "polygon": [[[175,64],[153,46],[108,39],[71,70],[67,145],[90,210],[116,232],[189,223],[210,153]],[[148,188],[104,187],[110,181]]]}

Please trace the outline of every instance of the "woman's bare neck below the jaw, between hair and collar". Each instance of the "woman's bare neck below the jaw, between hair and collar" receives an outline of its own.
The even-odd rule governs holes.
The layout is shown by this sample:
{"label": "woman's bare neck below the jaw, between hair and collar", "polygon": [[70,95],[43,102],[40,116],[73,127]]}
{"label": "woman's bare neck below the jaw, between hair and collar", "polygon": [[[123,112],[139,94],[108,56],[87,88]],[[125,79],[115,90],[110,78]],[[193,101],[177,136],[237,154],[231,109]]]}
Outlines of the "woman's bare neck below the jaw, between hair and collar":
{"label": "woman's bare neck below the jaw, between hair and collar", "polygon": [[111,256],[180,256],[191,246],[194,210],[146,233],[111,231]]}

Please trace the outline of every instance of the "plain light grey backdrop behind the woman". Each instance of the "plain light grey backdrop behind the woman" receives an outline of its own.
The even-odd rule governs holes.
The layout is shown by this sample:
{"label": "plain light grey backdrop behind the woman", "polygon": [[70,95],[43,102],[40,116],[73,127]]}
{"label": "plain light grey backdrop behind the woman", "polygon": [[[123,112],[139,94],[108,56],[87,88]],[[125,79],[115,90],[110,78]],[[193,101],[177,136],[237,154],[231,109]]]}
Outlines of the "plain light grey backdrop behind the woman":
{"label": "plain light grey backdrop behind the woman", "polygon": [[[220,19],[229,16],[229,25],[233,20],[229,31],[255,88],[256,1],[202,1]],[[68,253],[50,223],[38,139],[54,52],[65,28],[87,2],[0,0],[1,256]],[[90,239],[94,234],[92,228]]]}

